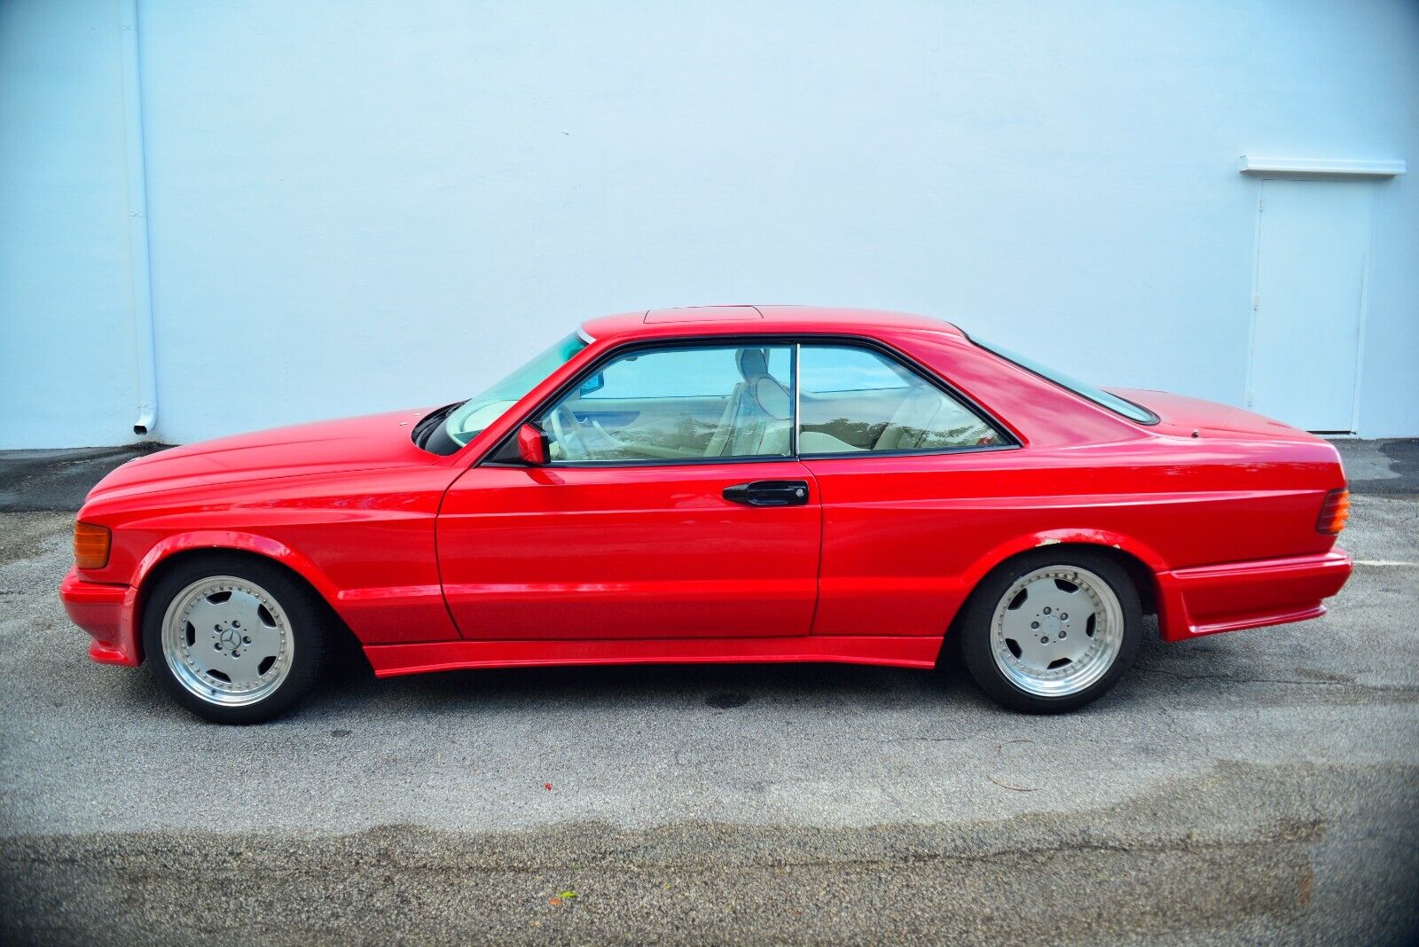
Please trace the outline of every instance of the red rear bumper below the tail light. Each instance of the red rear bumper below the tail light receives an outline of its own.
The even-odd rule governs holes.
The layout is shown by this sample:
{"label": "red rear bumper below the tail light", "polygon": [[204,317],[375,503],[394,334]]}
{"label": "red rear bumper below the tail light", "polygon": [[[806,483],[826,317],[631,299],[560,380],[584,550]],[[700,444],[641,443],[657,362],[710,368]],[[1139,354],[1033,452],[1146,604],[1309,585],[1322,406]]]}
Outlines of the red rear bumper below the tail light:
{"label": "red rear bumper below the tail light", "polygon": [[1341,549],[1315,556],[1261,559],[1158,574],[1164,641],[1280,625],[1325,614],[1323,600],[1349,578]]}

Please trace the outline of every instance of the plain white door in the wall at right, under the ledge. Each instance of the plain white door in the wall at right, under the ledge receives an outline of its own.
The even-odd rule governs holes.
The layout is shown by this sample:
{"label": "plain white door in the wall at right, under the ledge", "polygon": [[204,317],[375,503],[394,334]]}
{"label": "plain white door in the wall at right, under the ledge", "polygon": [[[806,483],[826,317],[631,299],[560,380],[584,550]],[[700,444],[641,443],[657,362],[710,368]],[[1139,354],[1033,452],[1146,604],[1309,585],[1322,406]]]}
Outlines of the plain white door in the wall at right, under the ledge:
{"label": "plain white door in the wall at right, under the ledge", "polygon": [[1354,431],[1371,186],[1261,181],[1252,296],[1252,410]]}

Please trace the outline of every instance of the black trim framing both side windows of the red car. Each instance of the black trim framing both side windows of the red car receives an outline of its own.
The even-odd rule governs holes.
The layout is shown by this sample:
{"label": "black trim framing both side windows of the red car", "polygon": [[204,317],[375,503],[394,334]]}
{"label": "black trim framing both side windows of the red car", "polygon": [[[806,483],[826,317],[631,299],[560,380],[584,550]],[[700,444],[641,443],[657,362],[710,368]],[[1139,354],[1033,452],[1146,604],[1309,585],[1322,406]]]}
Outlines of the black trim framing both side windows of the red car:
{"label": "black trim framing both side windows of the red car", "polygon": [[[904,352],[894,349],[893,346],[881,342],[880,339],[873,339],[871,336],[860,335],[841,335],[841,333],[782,333],[782,332],[765,332],[765,333],[735,333],[735,335],[711,335],[711,336],[673,336],[661,339],[633,339],[630,342],[613,346],[607,349],[589,364],[586,364],[580,371],[572,376],[569,380],[558,386],[551,394],[543,397],[531,410],[522,414],[521,418],[509,428],[509,431],[502,435],[502,438],[488,449],[474,466],[511,466],[511,468],[525,468],[524,464],[515,464],[511,461],[494,459],[498,456],[505,456],[505,449],[508,444],[514,441],[518,435],[518,430],[524,424],[529,424],[532,418],[542,414],[546,408],[561,401],[563,397],[570,394],[573,390],[580,387],[580,384],[596,374],[613,360],[626,354],[627,352],[636,352],[640,349],[700,349],[700,347],[714,347],[714,349],[731,349],[744,347],[746,344],[765,344],[765,346],[792,346],[793,357],[790,367],[790,379],[793,384],[793,428],[789,439],[789,454],[753,454],[746,456],[687,456],[687,458],[646,458],[637,461],[552,461],[546,464],[546,468],[556,469],[604,469],[614,466],[707,466],[714,464],[772,464],[783,461],[834,461],[834,459],[849,459],[849,458],[876,458],[876,456],[932,456],[932,455],[949,455],[949,454],[976,454],[988,451],[1016,451],[1022,447],[1020,439],[1010,432],[1010,430],[993,414],[981,407],[975,398],[968,396],[961,388],[955,387],[945,379],[942,379],[931,367],[922,364],[917,359],[912,359]],[[999,444],[968,444],[962,447],[932,447],[932,448],[905,448],[895,451],[839,451],[834,454],[802,454],[797,445],[799,428],[802,427],[802,420],[799,417],[799,347],[803,344],[827,344],[843,349],[857,347],[868,349],[877,352],[888,359],[895,360],[898,364],[905,367],[914,376],[922,381],[931,384],[938,391],[955,398],[964,408],[971,411],[976,418],[979,418],[986,427],[995,431],[996,437],[1000,438]],[[1013,363],[1012,363],[1013,364]]]}

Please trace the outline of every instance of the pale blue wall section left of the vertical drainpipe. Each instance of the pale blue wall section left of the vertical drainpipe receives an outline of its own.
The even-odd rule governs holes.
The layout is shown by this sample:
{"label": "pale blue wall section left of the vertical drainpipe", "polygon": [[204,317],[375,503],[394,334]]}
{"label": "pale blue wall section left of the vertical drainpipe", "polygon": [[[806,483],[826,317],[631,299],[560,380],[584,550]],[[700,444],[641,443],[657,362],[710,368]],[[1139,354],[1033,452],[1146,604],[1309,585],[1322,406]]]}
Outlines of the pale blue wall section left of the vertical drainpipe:
{"label": "pale blue wall section left of the vertical drainpipe", "polygon": [[133,435],[118,9],[0,1],[0,448]]}

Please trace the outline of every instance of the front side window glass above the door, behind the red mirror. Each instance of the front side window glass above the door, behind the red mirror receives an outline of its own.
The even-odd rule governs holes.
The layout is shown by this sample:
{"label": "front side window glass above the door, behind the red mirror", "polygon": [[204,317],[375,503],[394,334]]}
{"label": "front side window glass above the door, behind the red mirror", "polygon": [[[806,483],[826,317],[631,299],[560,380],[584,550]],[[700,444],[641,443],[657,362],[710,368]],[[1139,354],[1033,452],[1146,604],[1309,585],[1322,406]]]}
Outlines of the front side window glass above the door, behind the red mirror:
{"label": "front side window glass above the door, behind the red mirror", "polygon": [[536,418],[552,462],[789,456],[793,347],[640,349]]}

